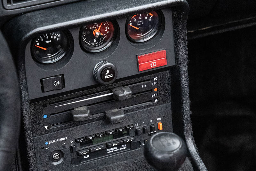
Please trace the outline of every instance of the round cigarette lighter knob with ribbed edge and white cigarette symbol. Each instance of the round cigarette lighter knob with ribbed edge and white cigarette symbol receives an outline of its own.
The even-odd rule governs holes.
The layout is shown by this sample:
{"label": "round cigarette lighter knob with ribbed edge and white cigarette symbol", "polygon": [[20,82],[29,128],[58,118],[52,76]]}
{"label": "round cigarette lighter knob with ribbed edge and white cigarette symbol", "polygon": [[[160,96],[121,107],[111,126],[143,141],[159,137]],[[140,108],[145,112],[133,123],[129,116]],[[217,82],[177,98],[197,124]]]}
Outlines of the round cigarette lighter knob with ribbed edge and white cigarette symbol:
{"label": "round cigarette lighter knob with ribbed edge and white cigarette symbol", "polygon": [[94,67],[93,76],[102,85],[111,84],[117,77],[116,66],[108,61],[101,61]]}

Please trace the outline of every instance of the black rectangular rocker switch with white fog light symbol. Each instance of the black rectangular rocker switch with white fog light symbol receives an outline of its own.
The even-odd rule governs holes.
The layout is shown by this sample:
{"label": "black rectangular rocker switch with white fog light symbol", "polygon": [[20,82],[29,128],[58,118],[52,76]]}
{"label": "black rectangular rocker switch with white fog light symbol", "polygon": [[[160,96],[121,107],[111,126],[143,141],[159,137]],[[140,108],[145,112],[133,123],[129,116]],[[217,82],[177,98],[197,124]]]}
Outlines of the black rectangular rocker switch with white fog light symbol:
{"label": "black rectangular rocker switch with white fog light symbol", "polygon": [[65,87],[63,74],[41,79],[41,87],[42,92],[63,89]]}

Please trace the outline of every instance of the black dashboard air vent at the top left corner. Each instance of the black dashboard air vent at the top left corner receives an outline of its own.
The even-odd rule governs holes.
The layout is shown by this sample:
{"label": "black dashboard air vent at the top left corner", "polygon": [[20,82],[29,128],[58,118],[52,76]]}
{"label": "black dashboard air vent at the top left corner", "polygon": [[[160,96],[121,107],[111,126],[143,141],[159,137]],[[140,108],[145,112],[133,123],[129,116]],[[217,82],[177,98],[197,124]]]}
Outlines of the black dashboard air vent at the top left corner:
{"label": "black dashboard air vent at the top left corner", "polygon": [[64,4],[64,3],[77,1],[77,0],[3,0],[3,5],[5,9],[13,10],[17,8],[24,8],[29,6],[46,4],[46,3],[55,2],[55,1],[56,2],[60,1],[61,4]]}

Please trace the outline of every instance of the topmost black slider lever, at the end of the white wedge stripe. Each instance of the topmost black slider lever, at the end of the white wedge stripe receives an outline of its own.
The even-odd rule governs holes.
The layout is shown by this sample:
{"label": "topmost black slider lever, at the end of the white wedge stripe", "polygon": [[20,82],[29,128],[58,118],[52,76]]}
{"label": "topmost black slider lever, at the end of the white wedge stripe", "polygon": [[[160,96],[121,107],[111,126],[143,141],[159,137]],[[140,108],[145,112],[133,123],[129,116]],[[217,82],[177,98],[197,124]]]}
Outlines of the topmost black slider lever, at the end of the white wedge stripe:
{"label": "topmost black slider lever, at the end of the white wedge stripe", "polygon": [[132,97],[132,90],[130,87],[116,87],[111,89],[113,91],[113,98],[119,101],[126,100]]}

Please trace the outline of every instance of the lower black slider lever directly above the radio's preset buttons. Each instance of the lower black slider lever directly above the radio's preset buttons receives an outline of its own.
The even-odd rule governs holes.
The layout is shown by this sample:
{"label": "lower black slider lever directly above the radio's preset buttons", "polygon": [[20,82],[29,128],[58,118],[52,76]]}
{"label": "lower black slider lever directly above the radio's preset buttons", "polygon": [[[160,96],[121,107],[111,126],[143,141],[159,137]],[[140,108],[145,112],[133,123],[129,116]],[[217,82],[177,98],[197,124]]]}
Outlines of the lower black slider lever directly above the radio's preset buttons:
{"label": "lower black slider lever directly above the radio's preset buttons", "polygon": [[110,123],[120,123],[124,121],[124,111],[113,109],[106,112],[106,120]]}

